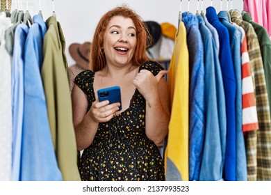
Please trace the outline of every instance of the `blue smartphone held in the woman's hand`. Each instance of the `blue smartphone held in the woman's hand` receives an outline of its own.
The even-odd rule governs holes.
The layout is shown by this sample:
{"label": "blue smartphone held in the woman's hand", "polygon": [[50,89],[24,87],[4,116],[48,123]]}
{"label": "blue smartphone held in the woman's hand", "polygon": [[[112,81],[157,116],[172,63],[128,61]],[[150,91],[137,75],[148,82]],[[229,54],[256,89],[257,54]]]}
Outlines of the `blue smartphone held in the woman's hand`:
{"label": "blue smartphone held in the woman's hand", "polygon": [[112,86],[108,88],[101,88],[97,91],[99,102],[108,100],[109,104],[119,102],[119,111],[122,110],[122,98],[120,94],[120,86]]}

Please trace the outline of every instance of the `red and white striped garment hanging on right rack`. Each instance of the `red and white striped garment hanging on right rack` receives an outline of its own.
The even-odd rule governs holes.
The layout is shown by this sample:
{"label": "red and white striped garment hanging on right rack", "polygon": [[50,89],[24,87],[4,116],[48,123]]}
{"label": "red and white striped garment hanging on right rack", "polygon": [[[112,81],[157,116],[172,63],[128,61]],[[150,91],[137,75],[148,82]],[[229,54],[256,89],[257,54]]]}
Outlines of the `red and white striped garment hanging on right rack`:
{"label": "red and white striped garment hanging on right rack", "polygon": [[242,31],[241,61],[242,61],[242,109],[243,109],[243,132],[258,130],[258,116],[256,109],[256,98],[252,72],[249,64],[249,54],[247,52],[247,38],[245,31]]}

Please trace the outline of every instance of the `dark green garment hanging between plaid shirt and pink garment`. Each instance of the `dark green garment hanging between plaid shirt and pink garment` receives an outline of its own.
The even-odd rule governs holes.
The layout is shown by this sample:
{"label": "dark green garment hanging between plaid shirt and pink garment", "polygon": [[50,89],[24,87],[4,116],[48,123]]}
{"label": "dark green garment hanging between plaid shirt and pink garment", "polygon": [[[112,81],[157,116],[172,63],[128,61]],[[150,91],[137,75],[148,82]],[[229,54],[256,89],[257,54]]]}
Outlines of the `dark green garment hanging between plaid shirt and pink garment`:
{"label": "dark green garment hanging between plaid shirt and pink garment", "polygon": [[[266,89],[268,90],[268,102],[271,107],[271,40],[268,33],[263,26],[252,21],[249,13],[243,14],[243,20],[252,24],[254,31],[258,37],[258,43],[261,48],[261,57],[263,59],[263,68],[265,70]],[[270,113],[271,114],[271,113]]]}

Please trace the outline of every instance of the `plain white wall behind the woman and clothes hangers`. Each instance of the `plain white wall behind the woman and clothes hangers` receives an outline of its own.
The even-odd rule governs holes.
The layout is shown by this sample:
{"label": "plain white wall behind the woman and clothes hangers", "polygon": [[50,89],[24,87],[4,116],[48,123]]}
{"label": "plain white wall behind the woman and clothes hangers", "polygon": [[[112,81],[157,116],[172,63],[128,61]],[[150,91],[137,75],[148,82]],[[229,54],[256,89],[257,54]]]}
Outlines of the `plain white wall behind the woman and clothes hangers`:
{"label": "plain white wall behind the woman and clothes hangers", "polygon": [[[12,10],[16,8],[17,1],[13,0]],[[22,8],[26,10],[26,0],[19,1],[22,1]],[[211,1],[199,0],[199,10],[201,10],[203,2],[205,12],[206,8],[211,6]],[[27,2],[28,10],[32,16],[40,10],[40,3],[44,20],[52,15],[52,0],[28,0]],[[182,3],[180,4],[180,2]],[[227,3],[230,9],[231,0],[213,0],[213,7],[215,7],[217,13],[220,11],[221,2],[222,10],[227,9]],[[142,20],[153,20],[159,24],[170,22],[177,26],[180,7],[182,12],[187,11],[189,7],[191,13],[196,13],[197,3],[197,0],[54,0],[54,8],[56,19],[60,22],[65,36],[67,60],[69,65],[72,65],[74,61],[69,56],[69,45],[73,42],[92,41],[95,27],[101,15],[115,8],[115,6],[126,4],[136,10]],[[243,1],[233,0],[232,8],[243,10]]]}

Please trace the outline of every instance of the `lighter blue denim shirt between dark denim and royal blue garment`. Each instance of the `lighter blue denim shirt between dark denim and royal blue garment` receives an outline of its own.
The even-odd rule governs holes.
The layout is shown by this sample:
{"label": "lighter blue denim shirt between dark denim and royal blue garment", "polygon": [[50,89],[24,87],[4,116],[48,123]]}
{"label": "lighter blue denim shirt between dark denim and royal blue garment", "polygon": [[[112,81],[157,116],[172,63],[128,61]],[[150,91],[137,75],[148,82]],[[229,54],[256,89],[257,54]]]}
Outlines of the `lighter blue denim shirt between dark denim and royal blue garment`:
{"label": "lighter blue denim shirt between dark denim and royal blue garment", "polygon": [[222,180],[226,151],[226,107],[222,72],[211,31],[197,16],[204,45],[205,139],[199,180]]}

